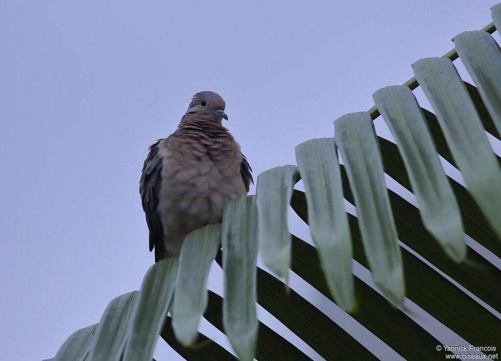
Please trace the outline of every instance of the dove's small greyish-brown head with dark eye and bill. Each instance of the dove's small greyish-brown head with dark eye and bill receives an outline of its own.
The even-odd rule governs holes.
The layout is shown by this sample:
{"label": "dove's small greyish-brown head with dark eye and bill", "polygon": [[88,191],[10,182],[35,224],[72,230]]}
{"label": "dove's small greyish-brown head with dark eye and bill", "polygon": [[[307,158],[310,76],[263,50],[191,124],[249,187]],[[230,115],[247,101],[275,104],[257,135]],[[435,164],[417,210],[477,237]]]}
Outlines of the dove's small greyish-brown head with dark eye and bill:
{"label": "dove's small greyish-brown head with dark eye and bill", "polygon": [[222,118],[228,120],[228,116],[224,112],[225,107],[226,103],[219,94],[203,91],[193,95],[185,115],[193,114],[220,123]]}

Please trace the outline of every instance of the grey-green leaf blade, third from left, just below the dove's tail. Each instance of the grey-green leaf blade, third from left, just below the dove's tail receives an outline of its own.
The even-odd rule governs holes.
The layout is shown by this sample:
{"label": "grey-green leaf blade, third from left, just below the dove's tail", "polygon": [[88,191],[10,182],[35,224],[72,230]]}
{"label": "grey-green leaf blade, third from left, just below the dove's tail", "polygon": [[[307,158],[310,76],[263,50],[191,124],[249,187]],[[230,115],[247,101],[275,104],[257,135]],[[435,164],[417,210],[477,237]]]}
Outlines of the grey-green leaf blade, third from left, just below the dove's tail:
{"label": "grey-green leaf blade, third from left, just below the dove's tail", "polygon": [[168,258],[151,266],[144,276],[129,328],[123,361],[153,357],[155,344],[174,292],[177,258]]}

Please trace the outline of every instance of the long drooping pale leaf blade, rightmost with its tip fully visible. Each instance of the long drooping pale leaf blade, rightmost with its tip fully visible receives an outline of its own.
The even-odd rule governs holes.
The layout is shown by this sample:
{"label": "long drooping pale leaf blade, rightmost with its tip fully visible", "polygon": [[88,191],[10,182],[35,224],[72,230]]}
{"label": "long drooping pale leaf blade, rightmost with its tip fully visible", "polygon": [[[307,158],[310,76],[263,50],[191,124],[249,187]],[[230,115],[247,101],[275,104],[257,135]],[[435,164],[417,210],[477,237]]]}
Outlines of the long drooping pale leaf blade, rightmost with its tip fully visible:
{"label": "long drooping pale leaf blade, rightmost with its tip fully visible", "polygon": [[397,141],[426,229],[452,259],[464,260],[459,207],[416,98],[405,86],[382,88],[373,98]]}

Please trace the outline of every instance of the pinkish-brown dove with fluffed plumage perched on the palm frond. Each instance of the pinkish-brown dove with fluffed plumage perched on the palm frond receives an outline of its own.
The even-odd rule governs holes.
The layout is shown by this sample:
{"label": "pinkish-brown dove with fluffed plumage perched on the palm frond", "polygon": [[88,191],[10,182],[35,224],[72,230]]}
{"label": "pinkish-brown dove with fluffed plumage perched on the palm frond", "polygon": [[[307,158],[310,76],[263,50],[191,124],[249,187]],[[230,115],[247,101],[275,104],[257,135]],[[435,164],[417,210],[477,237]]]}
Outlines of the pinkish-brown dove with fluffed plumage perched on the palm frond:
{"label": "pinkish-brown dove with fluffed plumage perched on the palm frond", "polygon": [[196,93],[177,129],[149,147],[139,193],[155,262],[176,257],[188,233],[221,222],[224,204],[254,184],[239,144],[222,125],[225,102]]}

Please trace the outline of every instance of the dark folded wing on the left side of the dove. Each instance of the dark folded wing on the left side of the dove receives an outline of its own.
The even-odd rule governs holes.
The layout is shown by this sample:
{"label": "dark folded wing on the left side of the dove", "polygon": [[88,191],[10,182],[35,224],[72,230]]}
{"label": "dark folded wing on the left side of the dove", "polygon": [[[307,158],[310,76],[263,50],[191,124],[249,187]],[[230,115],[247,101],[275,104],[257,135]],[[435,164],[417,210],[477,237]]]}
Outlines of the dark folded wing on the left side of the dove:
{"label": "dark folded wing on the left side of the dove", "polygon": [[158,153],[158,144],[162,140],[158,139],[150,146],[150,152],[144,161],[141,180],[139,181],[141,203],[150,230],[150,252],[155,248],[155,262],[159,258],[160,249],[163,247],[162,222],[157,212],[158,196],[162,183],[162,158]]}

